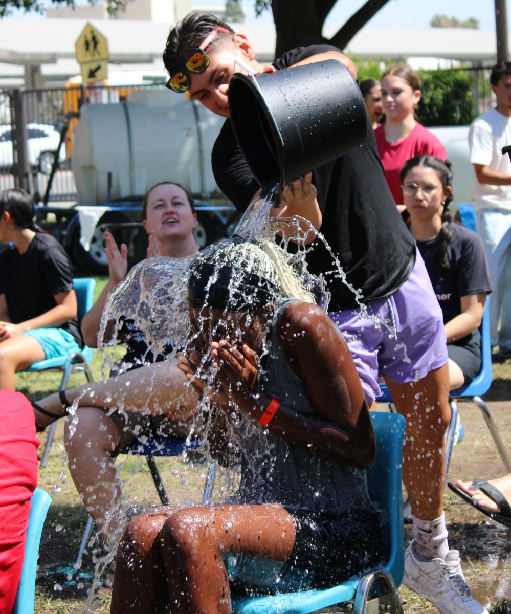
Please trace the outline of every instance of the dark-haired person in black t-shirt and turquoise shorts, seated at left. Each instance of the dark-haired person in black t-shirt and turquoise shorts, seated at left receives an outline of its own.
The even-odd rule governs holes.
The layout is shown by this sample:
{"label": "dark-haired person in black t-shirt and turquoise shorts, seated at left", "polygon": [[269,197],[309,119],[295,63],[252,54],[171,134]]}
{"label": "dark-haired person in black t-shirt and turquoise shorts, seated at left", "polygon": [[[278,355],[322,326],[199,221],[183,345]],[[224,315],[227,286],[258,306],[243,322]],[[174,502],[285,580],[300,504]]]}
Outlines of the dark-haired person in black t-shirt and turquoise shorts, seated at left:
{"label": "dark-haired person in black t-shirt and turquoise shorts, seated at left", "polygon": [[0,194],[0,389],[15,390],[17,371],[83,346],[72,266],[57,239],[34,223],[30,196]]}

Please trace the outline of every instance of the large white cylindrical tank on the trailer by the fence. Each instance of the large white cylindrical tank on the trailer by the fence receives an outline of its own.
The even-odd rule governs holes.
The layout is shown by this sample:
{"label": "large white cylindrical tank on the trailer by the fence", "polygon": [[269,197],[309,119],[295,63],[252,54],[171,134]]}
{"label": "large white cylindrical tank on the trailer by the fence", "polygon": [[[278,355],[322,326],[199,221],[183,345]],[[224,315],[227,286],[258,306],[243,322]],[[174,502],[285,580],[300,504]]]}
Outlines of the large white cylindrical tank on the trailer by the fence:
{"label": "large white cylindrical tank on the trailer by the fence", "polygon": [[201,104],[162,90],[134,91],[124,103],[85,104],[72,152],[78,204],[141,196],[160,181],[179,182],[203,198],[221,196],[211,150],[222,123]]}

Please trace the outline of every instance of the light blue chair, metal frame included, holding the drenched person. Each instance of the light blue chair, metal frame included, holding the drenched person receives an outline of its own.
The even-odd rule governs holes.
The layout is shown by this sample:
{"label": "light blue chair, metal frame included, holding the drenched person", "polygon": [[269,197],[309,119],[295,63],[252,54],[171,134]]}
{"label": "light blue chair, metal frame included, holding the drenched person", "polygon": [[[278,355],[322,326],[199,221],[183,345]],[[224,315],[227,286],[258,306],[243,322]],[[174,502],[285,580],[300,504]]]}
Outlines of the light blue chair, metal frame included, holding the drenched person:
{"label": "light blue chair, metal frame included, holding the drenched person", "polygon": [[[399,414],[371,412],[376,433],[376,459],[367,469],[371,499],[383,511],[389,551],[383,565],[362,577],[324,590],[301,591],[233,600],[233,614],[308,614],[354,600],[353,614],[402,612],[396,587],[404,575],[401,467],[405,419]],[[375,592],[375,589],[380,592]]]}

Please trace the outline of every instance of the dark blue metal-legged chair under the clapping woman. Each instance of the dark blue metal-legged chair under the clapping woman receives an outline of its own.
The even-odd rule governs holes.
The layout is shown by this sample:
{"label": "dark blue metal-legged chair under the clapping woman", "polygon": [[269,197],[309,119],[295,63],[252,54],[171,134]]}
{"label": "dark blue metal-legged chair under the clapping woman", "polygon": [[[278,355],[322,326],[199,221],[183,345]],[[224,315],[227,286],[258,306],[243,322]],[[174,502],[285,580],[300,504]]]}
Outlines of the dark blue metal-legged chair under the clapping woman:
{"label": "dark blue metal-legged chair under the clapping woman", "polygon": [[[155,457],[165,456],[182,456],[188,450],[195,450],[200,448],[200,441],[192,439],[187,441],[185,438],[169,437],[169,438],[155,438],[144,439],[144,441],[135,439],[128,446],[120,451],[120,454],[135,454],[137,456],[145,456],[149,471],[154,481],[154,485],[158,491],[160,502],[162,505],[170,505],[170,500],[166,494],[165,486],[163,486],[162,476],[158,471],[158,467],[155,462]],[[202,505],[208,505],[211,502],[211,491],[213,490],[213,483],[216,476],[216,464],[211,462],[208,465],[208,475],[206,476],[206,483],[202,495]],[[78,556],[74,564],[74,569],[80,569],[84,551],[87,546],[88,538],[92,531],[93,525],[92,516],[87,519],[87,525],[85,526],[84,537],[82,537],[82,543],[78,551]]]}

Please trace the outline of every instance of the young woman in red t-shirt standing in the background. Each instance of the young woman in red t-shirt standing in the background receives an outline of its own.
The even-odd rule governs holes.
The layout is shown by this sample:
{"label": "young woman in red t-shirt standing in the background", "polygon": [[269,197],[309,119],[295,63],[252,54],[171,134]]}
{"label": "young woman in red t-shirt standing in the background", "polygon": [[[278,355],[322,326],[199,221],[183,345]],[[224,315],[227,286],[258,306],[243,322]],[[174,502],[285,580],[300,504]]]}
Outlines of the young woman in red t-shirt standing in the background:
{"label": "young woman in red t-shirt standing in the background", "polygon": [[397,208],[405,211],[400,172],[416,155],[447,159],[439,139],[418,122],[421,80],[408,66],[392,66],[381,77],[381,100],[386,122],[375,130],[376,146]]}

